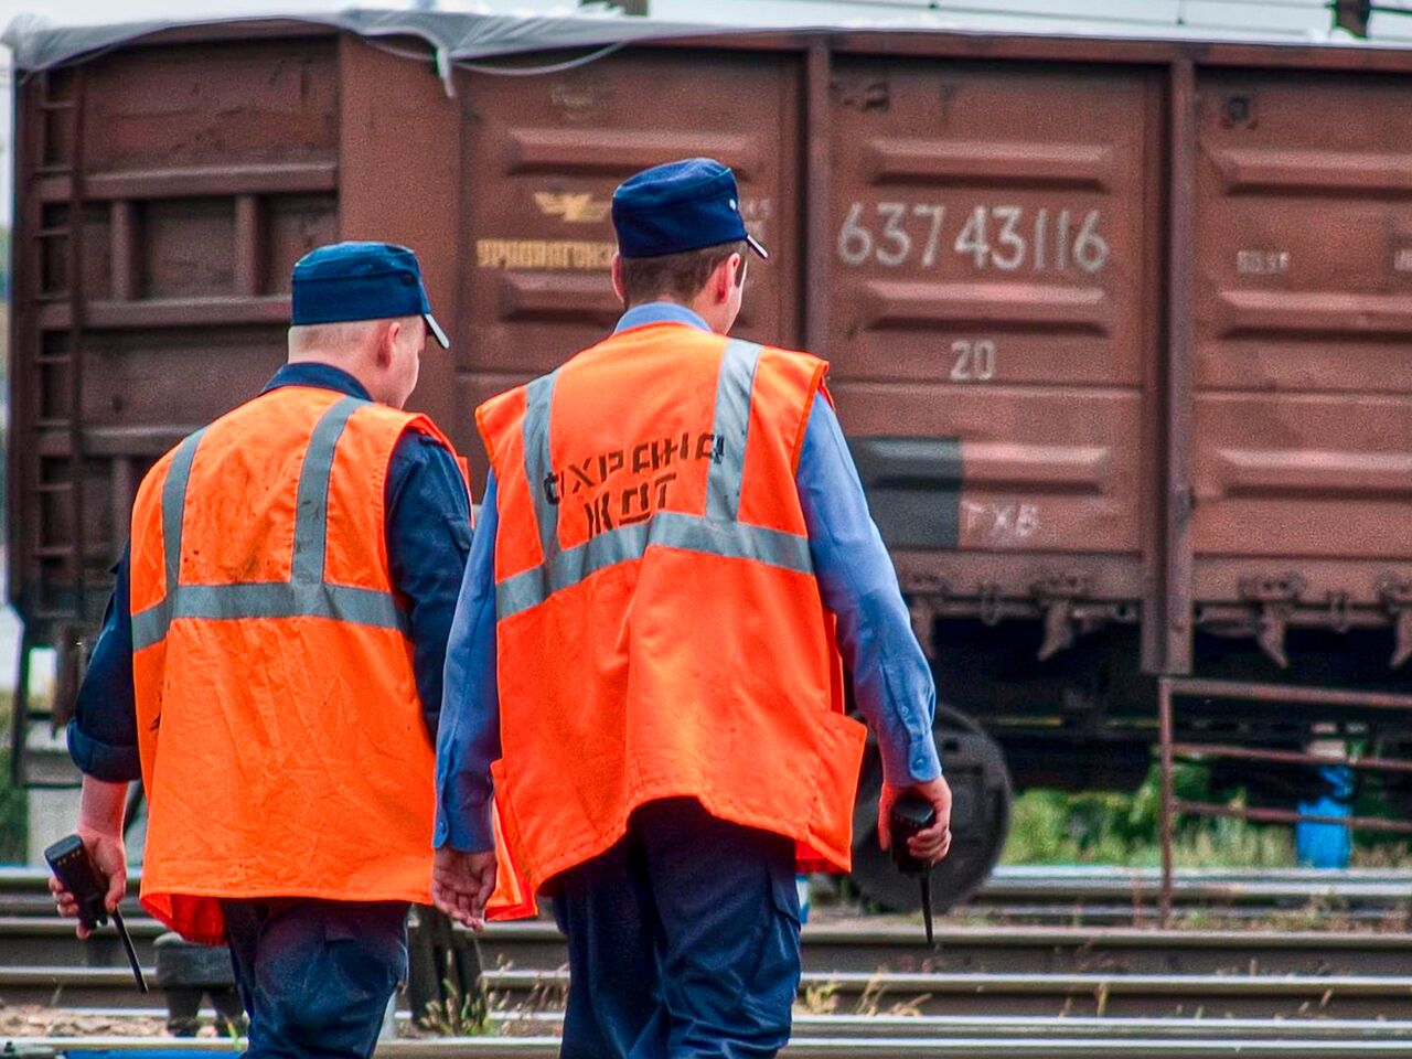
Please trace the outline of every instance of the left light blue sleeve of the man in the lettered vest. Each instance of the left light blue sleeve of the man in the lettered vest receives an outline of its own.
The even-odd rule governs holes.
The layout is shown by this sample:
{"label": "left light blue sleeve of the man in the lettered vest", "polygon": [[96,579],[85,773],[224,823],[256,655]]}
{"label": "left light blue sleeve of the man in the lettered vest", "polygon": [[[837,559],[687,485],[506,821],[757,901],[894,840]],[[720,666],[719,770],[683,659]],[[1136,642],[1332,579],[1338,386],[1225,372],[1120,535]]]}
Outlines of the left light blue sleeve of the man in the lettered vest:
{"label": "left light blue sleeve of the man in the lettered vest", "polygon": [[433,843],[467,853],[494,849],[490,762],[500,757],[496,682],[496,479],[486,479],[480,521],[446,644],[445,690],[436,736]]}

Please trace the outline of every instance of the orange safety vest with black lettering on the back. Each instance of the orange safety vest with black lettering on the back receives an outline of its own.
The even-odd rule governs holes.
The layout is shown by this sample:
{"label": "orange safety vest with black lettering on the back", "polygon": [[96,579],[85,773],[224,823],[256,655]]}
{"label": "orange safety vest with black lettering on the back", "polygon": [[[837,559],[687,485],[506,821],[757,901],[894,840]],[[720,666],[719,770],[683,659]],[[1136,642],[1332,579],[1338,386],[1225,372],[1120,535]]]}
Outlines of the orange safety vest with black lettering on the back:
{"label": "orange safety vest with black lettering on the back", "polygon": [[650,325],[477,409],[498,518],[493,918],[532,914],[661,798],[849,868],[864,730],[794,477],[826,370]]}

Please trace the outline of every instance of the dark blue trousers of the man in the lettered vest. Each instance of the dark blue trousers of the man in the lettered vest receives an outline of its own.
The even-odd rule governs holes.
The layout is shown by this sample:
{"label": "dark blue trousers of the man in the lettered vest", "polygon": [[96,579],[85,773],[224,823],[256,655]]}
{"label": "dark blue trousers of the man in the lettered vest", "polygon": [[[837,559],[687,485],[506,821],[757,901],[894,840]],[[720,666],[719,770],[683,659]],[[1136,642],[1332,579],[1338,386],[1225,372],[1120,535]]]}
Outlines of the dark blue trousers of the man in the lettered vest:
{"label": "dark blue trousers of the man in the lettered vest", "polygon": [[792,840],[695,799],[651,802],[623,842],[551,892],[569,939],[563,1059],[757,1059],[789,1041]]}

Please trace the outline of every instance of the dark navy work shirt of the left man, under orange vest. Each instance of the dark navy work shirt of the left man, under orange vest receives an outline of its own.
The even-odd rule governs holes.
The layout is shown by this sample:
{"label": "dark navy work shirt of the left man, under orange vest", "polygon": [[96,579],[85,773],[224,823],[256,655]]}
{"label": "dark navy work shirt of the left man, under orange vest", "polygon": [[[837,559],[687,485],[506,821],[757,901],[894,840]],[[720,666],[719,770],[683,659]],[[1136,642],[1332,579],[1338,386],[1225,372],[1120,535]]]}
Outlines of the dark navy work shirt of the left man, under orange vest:
{"label": "dark navy work shirt of the left man, under orange vest", "polygon": [[[332,364],[285,364],[264,393],[281,385],[309,385],[371,400],[361,383]],[[470,551],[470,497],[456,457],[419,431],[404,433],[393,449],[385,497],[387,561],[393,587],[405,600],[417,692],[426,731],[435,740],[446,635]],[[127,548],[114,573],[113,596],[79,688],[68,738],[69,757],[86,775],[124,782],[141,778]]]}

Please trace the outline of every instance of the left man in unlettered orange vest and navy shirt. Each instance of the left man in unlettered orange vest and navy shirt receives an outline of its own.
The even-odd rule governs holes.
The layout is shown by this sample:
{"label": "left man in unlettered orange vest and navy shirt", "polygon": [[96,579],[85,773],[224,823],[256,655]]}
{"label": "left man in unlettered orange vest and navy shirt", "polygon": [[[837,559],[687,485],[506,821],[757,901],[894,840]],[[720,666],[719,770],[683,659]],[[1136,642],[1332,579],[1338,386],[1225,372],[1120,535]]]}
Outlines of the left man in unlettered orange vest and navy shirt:
{"label": "left man in unlettered orange vest and navy shirt", "polygon": [[429,898],[470,501],[450,442],[401,411],[428,335],[448,346],[415,254],[321,247],[292,306],[264,393],[144,477],[69,750],[109,908],[141,778],[143,907],[229,942],[249,1055],[366,1059]]}

